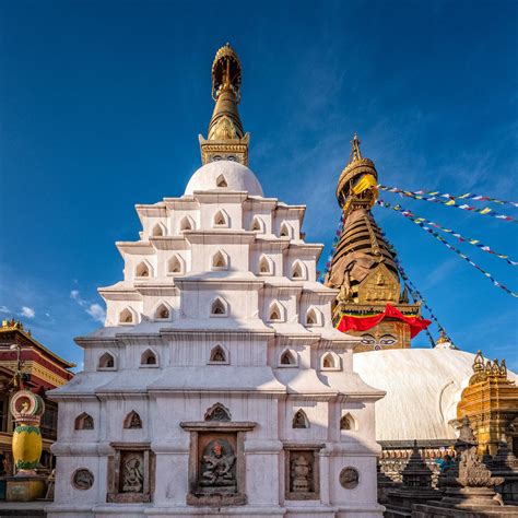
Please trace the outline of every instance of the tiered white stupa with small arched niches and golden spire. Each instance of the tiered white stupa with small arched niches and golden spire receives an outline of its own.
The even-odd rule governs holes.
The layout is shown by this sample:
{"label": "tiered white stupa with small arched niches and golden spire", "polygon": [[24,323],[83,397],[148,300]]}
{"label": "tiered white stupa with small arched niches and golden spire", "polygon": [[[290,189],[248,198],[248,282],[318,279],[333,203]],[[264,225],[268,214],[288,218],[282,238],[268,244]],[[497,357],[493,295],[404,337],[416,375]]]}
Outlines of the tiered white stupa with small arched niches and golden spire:
{"label": "tiered white stupa with small arched niches and golden spire", "polygon": [[76,340],[84,370],[52,392],[50,518],[381,516],[384,392],[332,327],[304,205],[264,198],[246,166],[228,115],[237,66],[228,46],[216,55],[213,76],[231,81],[201,139],[208,163],[184,196],[137,207],[140,240],[117,243],[125,279],[99,290],[106,325]]}

